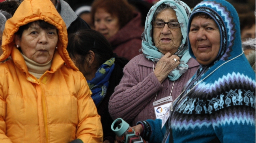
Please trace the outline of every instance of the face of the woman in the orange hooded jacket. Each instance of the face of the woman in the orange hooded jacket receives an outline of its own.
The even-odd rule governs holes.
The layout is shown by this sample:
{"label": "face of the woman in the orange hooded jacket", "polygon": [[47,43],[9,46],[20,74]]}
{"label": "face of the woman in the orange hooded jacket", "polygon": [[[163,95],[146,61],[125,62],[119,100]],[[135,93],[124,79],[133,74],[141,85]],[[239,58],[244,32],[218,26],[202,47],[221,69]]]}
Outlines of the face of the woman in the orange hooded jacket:
{"label": "face of the woman in the orange hooded jacket", "polygon": [[52,60],[57,42],[57,29],[42,29],[36,23],[24,30],[21,38],[18,35],[15,36],[15,44],[19,45],[22,53],[40,64]]}

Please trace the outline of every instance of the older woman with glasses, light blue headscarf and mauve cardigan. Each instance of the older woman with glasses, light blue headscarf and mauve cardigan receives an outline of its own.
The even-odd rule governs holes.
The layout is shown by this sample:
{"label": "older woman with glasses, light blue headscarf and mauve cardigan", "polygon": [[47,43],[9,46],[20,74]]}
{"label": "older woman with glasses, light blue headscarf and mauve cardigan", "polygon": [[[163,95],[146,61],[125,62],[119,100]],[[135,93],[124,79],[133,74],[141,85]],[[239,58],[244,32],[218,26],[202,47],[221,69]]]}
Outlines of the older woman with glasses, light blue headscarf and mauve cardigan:
{"label": "older woman with glasses, light blue headscarf and mauve cardigan", "polygon": [[[163,118],[172,100],[199,68],[187,45],[191,10],[179,0],[161,0],[151,7],[142,34],[142,52],[124,67],[124,76],[110,97],[113,119],[131,126]],[[161,107],[162,112],[157,112]]]}

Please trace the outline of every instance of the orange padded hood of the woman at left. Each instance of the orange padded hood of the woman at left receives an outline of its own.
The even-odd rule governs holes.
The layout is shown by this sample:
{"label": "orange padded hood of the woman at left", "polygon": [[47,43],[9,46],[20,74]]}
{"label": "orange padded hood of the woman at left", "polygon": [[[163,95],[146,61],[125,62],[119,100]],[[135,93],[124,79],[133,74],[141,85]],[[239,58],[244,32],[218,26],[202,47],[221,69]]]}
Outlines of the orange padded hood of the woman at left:
{"label": "orange padded hood of the woman at left", "polygon": [[14,37],[15,33],[19,30],[19,27],[37,20],[44,20],[58,29],[58,48],[52,58],[52,67],[50,71],[56,71],[64,64],[64,62],[68,67],[78,70],[69,58],[66,50],[67,28],[65,22],[62,20],[60,14],[50,0],[44,0],[43,2],[41,0],[24,0],[13,17],[7,20],[2,38],[3,54],[0,56],[0,61],[11,56],[17,67],[26,73],[28,72],[21,52],[15,47]]}

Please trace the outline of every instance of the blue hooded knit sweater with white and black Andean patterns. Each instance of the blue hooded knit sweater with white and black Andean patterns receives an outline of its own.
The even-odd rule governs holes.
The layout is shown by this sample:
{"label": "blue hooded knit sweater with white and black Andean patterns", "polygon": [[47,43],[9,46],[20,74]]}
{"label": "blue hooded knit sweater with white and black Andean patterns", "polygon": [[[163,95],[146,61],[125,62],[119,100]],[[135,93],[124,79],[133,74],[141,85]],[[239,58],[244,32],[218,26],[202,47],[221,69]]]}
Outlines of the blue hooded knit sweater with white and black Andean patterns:
{"label": "blue hooded knit sweater with white and black Andean patterns", "polygon": [[[225,0],[205,0],[192,11],[207,13],[220,31],[220,50],[210,65],[200,65],[174,101],[174,143],[255,143],[255,73],[241,49],[239,18]],[[189,51],[195,58],[189,43]],[[216,70],[216,71],[214,71]]]}

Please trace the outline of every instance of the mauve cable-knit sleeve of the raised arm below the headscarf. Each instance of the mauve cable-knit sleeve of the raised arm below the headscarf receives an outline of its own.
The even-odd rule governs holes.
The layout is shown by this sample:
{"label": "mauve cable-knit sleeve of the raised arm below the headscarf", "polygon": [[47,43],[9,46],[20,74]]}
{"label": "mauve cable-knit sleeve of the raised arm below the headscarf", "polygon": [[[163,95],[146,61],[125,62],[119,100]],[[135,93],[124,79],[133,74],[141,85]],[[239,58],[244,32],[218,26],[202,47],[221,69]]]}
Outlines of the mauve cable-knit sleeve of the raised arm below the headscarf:
{"label": "mauve cable-knit sleeve of the raised arm below the headscarf", "polygon": [[130,123],[162,88],[153,72],[143,79],[139,68],[138,56],[124,67],[123,78],[109,100],[108,109],[113,119],[123,118]]}

